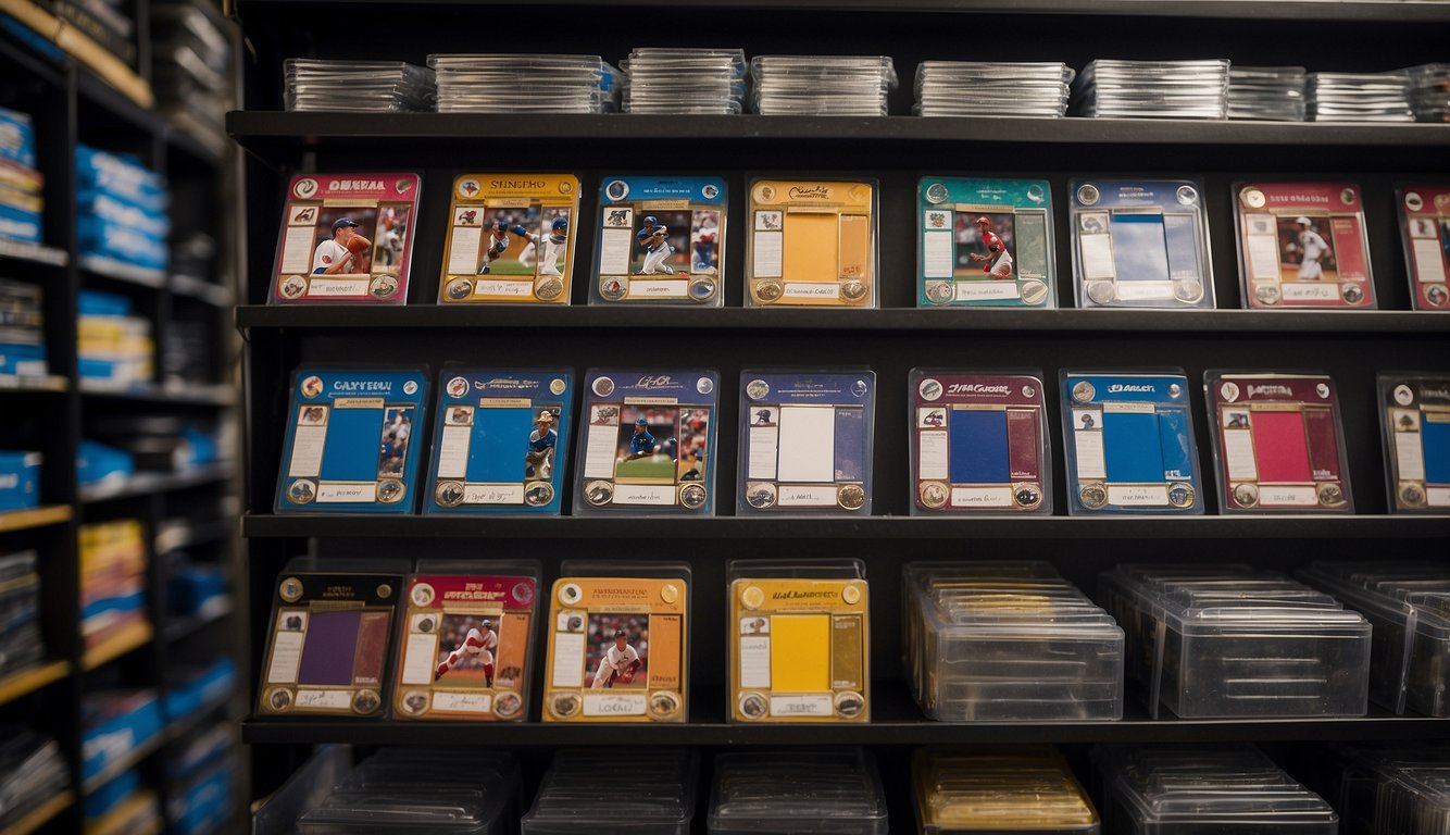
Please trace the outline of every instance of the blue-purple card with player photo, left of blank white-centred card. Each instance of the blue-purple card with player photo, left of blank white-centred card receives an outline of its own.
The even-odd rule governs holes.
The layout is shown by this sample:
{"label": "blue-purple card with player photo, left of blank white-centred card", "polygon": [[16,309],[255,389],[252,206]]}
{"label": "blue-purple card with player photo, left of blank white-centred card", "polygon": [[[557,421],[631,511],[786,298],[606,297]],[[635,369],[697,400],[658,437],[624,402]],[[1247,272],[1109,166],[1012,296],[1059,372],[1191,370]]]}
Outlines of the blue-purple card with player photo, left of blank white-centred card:
{"label": "blue-purple card with player photo, left of blank white-centred card", "polygon": [[712,513],[718,410],[716,371],[590,368],[574,513]]}

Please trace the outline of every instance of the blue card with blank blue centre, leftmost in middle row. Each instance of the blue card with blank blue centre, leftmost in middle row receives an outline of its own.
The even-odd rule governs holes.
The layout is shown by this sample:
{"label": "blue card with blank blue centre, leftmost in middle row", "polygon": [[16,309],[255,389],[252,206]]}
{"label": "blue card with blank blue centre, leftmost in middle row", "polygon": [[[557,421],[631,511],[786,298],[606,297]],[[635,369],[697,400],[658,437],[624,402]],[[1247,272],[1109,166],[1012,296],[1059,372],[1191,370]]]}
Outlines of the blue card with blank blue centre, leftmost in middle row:
{"label": "blue card with blank blue centre, leftmost in middle row", "polygon": [[277,512],[412,513],[426,403],[422,368],[299,368]]}

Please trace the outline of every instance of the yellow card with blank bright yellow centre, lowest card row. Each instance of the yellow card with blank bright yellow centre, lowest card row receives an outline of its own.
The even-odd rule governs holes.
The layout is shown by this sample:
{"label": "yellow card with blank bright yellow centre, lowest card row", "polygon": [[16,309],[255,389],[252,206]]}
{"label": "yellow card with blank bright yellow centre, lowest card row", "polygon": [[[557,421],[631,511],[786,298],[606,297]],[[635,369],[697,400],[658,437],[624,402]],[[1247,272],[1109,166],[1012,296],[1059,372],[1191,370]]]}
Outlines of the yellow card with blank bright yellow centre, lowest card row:
{"label": "yellow card with blank bright yellow centre, lowest card row", "polygon": [[866,564],[732,560],[729,722],[870,722]]}

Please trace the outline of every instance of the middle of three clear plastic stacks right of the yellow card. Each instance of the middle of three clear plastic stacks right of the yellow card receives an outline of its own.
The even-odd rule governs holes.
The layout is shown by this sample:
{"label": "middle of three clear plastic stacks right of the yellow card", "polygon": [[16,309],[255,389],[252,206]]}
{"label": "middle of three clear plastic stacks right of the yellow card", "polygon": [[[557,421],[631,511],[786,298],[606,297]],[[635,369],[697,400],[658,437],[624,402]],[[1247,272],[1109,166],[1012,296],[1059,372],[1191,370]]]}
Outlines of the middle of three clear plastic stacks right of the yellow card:
{"label": "middle of three clear plastic stacks right of the yellow card", "polygon": [[1122,564],[1098,600],[1127,633],[1125,678],[1153,718],[1363,716],[1370,623],[1247,565]]}

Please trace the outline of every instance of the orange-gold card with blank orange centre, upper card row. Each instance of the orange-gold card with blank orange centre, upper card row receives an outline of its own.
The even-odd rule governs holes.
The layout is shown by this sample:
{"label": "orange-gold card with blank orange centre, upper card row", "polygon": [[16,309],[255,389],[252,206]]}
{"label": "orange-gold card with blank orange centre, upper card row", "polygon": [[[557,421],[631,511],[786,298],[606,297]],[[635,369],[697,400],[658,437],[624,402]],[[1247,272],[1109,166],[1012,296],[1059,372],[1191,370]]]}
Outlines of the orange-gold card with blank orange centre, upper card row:
{"label": "orange-gold card with blank orange centre, upper card row", "polygon": [[748,307],[876,307],[876,181],[753,180]]}

